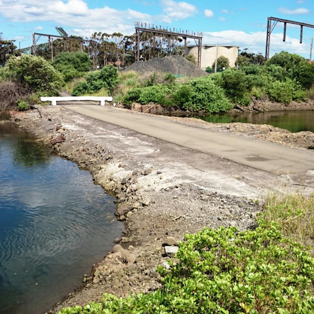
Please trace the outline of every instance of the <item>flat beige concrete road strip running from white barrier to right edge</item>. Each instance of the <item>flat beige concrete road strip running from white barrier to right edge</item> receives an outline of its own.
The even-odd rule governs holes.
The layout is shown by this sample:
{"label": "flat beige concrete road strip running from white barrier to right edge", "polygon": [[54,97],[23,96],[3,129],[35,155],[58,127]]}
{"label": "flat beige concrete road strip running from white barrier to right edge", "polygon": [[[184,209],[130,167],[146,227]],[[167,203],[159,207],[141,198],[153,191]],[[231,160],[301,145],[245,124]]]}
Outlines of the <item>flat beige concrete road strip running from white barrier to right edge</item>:
{"label": "flat beige concrete road strip running from white barrier to right edge", "polygon": [[160,116],[127,112],[113,106],[62,106],[91,118],[274,174],[301,173],[314,169],[314,152],[306,149],[214,132]]}

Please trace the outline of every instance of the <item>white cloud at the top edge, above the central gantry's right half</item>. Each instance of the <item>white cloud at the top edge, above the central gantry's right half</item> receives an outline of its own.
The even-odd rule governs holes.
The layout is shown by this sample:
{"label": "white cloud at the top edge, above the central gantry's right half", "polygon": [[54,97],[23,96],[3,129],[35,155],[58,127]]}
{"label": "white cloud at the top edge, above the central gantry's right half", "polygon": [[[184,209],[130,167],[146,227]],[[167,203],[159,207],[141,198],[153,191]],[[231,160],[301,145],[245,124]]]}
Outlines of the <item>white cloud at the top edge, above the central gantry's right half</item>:
{"label": "white cloud at the top edge, above the central gantry's right half", "polygon": [[160,4],[163,7],[164,13],[162,21],[166,23],[171,23],[172,20],[186,19],[198,12],[195,5],[184,1],[161,0]]}

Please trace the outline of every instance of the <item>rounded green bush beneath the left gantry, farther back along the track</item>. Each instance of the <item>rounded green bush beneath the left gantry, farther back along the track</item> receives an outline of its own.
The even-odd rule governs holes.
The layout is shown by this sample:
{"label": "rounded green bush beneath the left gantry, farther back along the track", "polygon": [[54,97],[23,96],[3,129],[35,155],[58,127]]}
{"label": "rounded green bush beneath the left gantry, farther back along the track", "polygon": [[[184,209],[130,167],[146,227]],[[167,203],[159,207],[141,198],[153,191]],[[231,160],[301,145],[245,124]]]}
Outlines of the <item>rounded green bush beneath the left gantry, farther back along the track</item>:
{"label": "rounded green bush beneath the left gantry, farther back along the track", "polygon": [[84,52],[60,52],[55,57],[53,66],[62,73],[64,81],[69,82],[89,71],[92,61]]}

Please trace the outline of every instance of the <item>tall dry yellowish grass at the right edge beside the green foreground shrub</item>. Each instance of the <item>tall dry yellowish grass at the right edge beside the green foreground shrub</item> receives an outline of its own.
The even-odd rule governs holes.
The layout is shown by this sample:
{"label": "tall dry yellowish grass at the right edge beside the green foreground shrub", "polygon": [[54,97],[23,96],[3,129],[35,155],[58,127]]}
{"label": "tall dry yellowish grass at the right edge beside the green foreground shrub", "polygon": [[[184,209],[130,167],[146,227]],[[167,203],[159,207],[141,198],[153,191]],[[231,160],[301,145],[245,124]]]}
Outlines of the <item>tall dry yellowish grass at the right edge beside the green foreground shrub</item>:
{"label": "tall dry yellowish grass at the right edge beside the green foreground shrub", "polygon": [[304,246],[314,248],[314,194],[304,197],[302,194],[280,196],[269,194],[263,217],[277,221],[284,235]]}

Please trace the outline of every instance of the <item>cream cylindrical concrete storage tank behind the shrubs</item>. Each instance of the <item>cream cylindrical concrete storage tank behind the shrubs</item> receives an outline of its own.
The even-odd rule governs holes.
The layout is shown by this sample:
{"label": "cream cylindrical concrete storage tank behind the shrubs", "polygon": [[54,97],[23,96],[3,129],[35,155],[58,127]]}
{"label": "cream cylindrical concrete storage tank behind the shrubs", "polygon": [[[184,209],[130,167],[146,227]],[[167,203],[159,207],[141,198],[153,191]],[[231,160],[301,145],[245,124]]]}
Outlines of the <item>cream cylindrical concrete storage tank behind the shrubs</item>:
{"label": "cream cylindrical concrete storage tank behind the shrubs", "polygon": [[[218,46],[218,57],[224,56],[229,59],[230,67],[235,66],[236,59],[238,57],[238,47],[230,46]],[[188,47],[187,55],[192,54],[197,60],[198,47]],[[205,70],[207,67],[211,67],[216,59],[216,46],[204,46],[202,47],[201,69]]]}

